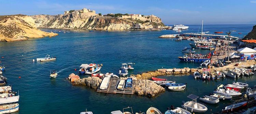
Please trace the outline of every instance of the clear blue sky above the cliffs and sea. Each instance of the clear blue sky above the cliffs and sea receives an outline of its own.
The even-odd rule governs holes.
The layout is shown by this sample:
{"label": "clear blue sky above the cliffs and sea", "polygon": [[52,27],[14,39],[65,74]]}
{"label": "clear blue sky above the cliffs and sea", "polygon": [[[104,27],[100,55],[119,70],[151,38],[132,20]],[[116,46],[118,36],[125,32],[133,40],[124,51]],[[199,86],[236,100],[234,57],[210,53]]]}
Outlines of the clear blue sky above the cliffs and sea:
{"label": "clear blue sky above the cliffs and sea", "polygon": [[0,15],[96,13],[155,15],[165,25],[256,24],[256,0],[0,0]]}

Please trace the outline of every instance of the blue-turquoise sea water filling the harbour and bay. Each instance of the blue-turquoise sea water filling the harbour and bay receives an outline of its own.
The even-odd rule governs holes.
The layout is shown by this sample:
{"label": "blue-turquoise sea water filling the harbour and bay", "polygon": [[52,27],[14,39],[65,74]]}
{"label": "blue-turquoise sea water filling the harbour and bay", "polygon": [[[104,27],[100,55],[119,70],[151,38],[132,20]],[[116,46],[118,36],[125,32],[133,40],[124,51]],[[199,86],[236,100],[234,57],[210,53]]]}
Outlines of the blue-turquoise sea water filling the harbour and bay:
{"label": "blue-turquoise sea water filling the harbour and bay", "polygon": [[[252,30],[253,25],[204,25],[204,31],[237,30],[234,36],[242,37]],[[199,25],[191,25],[185,32],[197,32]],[[42,29],[44,31],[59,31],[59,29]],[[60,30],[67,31],[67,30]],[[191,75],[168,75],[168,80],[177,83],[187,83],[183,92],[166,90],[155,98],[137,95],[103,94],[85,86],[72,86],[66,80],[82,63],[102,63],[102,73],[118,73],[121,63],[133,62],[133,74],[156,70],[159,68],[196,68],[200,63],[180,62],[177,56],[182,56],[181,50],[190,47],[192,41],[181,42],[172,39],[158,38],[163,34],[176,33],[172,30],[162,31],[94,31],[69,30],[70,33],[59,33],[53,38],[28,39],[22,42],[1,42],[1,64],[6,67],[3,74],[8,77],[8,84],[20,95],[20,114],[30,113],[69,113],[78,114],[87,109],[94,114],[107,114],[131,106],[134,112],[145,112],[150,106],[166,111],[170,105],[181,106],[189,94],[199,97],[209,95],[220,83],[228,84],[233,79],[202,82],[194,80]],[[238,34],[242,32],[242,34]],[[196,50],[198,53],[208,53],[206,50]],[[57,60],[48,62],[32,62],[33,59],[45,57],[46,54],[56,56]],[[49,77],[50,70],[58,70],[56,79]],[[18,77],[21,76],[19,79]],[[86,75],[80,75],[81,78]],[[256,77],[244,77],[237,81],[253,86]],[[231,101],[221,101],[218,104],[207,104],[206,113],[220,111]],[[212,111],[210,111],[212,109]]]}

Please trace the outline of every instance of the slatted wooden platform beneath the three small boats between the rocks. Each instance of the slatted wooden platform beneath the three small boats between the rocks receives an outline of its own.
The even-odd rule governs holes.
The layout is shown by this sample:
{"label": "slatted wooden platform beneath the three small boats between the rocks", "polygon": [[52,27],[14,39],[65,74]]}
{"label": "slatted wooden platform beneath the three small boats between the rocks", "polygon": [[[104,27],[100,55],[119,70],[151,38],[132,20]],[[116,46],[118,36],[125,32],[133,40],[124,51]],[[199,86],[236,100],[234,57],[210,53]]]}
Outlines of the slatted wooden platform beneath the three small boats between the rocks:
{"label": "slatted wooden platform beneath the three small boats between the rocks", "polygon": [[101,90],[100,86],[97,89],[97,92],[103,92],[103,93],[110,93],[110,94],[134,94],[134,83],[136,81],[133,81],[131,88],[124,88],[123,90],[117,90],[117,85],[120,79],[117,78],[110,78],[109,80],[109,86],[105,90]]}

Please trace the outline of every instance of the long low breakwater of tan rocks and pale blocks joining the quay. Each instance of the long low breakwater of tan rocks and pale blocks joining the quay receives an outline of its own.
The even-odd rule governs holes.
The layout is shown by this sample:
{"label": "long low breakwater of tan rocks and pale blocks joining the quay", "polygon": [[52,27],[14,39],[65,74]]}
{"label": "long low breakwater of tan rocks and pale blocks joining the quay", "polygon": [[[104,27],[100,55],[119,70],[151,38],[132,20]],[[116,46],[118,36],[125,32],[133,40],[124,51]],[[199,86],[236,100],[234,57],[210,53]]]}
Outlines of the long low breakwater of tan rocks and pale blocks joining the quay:
{"label": "long low breakwater of tan rocks and pale blocks joining the quay", "polygon": [[[161,75],[168,75],[168,74],[190,74],[194,73],[196,71],[200,71],[200,69],[195,69],[195,68],[172,68],[172,69],[158,69],[156,71],[148,71],[144,72],[142,74],[137,74],[137,79],[151,79],[151,77],[156,77],[156,76],[161,76]],[[200,71],[201,72],[201,71]]]}

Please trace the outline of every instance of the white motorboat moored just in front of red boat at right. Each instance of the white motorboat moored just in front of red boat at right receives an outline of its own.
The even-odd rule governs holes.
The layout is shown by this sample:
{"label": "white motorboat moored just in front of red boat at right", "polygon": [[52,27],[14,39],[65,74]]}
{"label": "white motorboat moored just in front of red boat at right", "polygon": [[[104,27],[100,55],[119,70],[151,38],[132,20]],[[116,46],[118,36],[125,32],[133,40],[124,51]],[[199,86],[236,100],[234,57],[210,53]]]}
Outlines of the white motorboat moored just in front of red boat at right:
{"label": "white motorboat moored just in front of red boat at right", "polygon": [[232,97],[240,96],[242,95],[241,92],[235,91],[235,90],[228,90],[223,84],[219,84],[217,89],[213,91],[215,94],[224,94],[224,95],[230,95]]}

